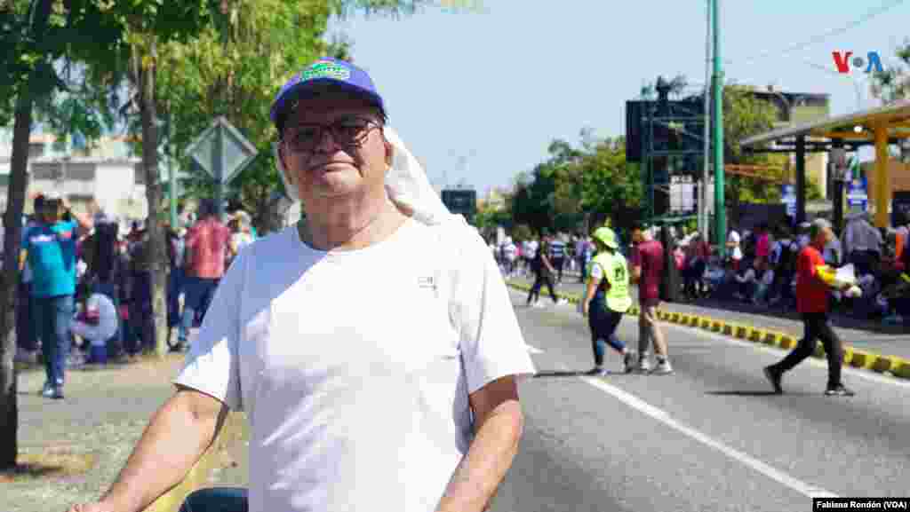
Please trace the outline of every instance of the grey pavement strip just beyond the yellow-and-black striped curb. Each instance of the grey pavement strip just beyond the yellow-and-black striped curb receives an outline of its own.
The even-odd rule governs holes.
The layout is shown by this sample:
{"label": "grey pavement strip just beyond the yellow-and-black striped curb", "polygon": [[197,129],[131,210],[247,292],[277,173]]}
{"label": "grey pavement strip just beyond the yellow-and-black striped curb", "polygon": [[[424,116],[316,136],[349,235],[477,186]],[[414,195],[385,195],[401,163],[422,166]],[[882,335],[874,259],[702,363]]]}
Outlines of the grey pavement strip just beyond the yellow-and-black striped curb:
{"label": "grey pavement strip just beyond the yellow-and-black striped curb", "polygon": [[[563,274],[563,283],[556,286],[556,293],[571,299],[580,297],[583,293],[583,286],[577,280],[577,275],[569,276],[568,273]],[[510,279],[507,282],[518,287],[532,285],[531,279],[525,277]],[[546,288],[543,288],[541,290],[541,300],[549,301],[548,296],[549,293]],[[637,296],[637,290],[634,288],[633,296]],[[663,311],[678,313],[680,316],[707,318],[712,325],[719,323],[720,331],[723,331],[724,326],[748,326],[753,329],[763,329],[792,336],[795,339],[803,336],[803,323],[794,312],[781,314],[762,310],[758,307],[754,307],[753,311],[743,311],[742,309],[745,309],[745,306],[739,309],[728,307],[728,305],[712,305],[706,301],[699,304],[664,302],[660,306]],[[845,346],[852,346],[854,350],[868,352],[875,356],[895,356],[910,361],[910,333],[905,332],[904,328],[894,326],[895,328],[888,329],[888,332],[872,331],[864,328],[866,326],[864,326],[862,321],[851,323],[842,318],[836,319],[834,326]],[[731,328],[730,330],[733,331],[734,329]]]}

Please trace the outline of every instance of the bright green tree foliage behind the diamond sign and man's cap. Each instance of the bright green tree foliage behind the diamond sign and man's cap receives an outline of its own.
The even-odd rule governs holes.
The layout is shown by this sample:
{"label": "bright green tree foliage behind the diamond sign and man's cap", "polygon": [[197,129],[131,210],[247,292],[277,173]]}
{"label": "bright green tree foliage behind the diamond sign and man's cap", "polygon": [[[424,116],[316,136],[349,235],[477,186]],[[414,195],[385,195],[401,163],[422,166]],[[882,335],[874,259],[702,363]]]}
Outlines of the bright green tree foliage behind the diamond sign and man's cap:
{"label": "bright green tree foliage behind the diamond sign and man's cap", "polygon": [[[227,25],[160,49],[157,97],[182,166],[194,168],[184,150],[218,115],[257,147],[257,158],[235,178],[230,195],[256,226],[268,224],[268,202],[281,183],[271,151],[277,134],[268,119],[275,91],[319,55],[349,57],[346,39],[322,39],[329,14],[326,2],[238,0],[229,6]],[[214,182],[199,169],[184,185],[189,196],[211,196]]]}

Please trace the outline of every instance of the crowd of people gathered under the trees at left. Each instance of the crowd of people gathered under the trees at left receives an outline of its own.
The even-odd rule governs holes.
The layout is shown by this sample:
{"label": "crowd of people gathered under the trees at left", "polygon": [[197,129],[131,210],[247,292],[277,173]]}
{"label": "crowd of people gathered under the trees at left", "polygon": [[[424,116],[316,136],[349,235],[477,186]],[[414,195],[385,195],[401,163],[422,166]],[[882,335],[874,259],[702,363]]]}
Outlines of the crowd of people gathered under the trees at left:
{"label": "crowd of people gathered under the trees at left", "polygon": [[[35,196],[34,206],[19,257],[16,357],[43,360],[42,394],[63,398],[67,366],[128,361],[154,349],[148,231],[139,221],[122,229],[96,206],[94,215],[76,213],[56,194]],[[189,329],[201,322],[232,258],[256,238],[242,210],[225,225],[204,199],[195,217],[187,216],[188,226],[164,224],[167,335],[176,351],[187,349]]]}

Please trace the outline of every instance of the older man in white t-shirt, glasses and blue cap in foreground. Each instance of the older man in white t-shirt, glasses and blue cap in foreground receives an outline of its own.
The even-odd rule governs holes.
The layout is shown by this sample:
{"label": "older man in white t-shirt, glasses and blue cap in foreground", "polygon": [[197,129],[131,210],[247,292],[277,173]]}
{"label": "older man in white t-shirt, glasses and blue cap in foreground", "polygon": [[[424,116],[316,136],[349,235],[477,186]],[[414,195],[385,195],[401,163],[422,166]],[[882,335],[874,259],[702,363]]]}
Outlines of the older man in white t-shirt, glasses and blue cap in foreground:
{"label": "older man in white t-shirt, glasses and blue cap in foreground", "polygon": [[476,230],[421,209],[450,217],[438,196],[389,189],[395,162],[416,159],[359,68],[310,65],[272,115],[306,220],[240,251],[177,395],[81,510],[146,507],[234,409],[250,423],[250,512],[480,512],[521,437],[517,379],[534,372],[495,261]]}

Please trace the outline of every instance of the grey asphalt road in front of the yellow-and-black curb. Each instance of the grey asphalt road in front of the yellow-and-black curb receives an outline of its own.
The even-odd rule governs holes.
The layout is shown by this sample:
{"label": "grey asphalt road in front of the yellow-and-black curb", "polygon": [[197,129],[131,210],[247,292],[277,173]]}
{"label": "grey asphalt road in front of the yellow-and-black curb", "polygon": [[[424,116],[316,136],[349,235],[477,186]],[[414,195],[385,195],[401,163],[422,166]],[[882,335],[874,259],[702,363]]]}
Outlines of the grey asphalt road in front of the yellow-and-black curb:
{"label": "grey asphalt road in front of the yellow-and-black curb", "polygon": [[[586,324],[574,306],[512,300],[541,375],[521,387],[525,436],[496,512],[784,512],[811,510],[811,496],[910,495],[910,383],[845,369],[857,396],[824,397],[811,359],[774,396],[761,368],[782,351],[672,325],[672,376],[553,375],[591,367]],[[637,343],[633,317],[619,334]]]}

